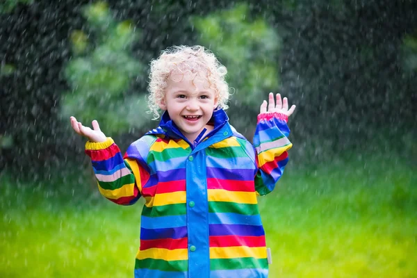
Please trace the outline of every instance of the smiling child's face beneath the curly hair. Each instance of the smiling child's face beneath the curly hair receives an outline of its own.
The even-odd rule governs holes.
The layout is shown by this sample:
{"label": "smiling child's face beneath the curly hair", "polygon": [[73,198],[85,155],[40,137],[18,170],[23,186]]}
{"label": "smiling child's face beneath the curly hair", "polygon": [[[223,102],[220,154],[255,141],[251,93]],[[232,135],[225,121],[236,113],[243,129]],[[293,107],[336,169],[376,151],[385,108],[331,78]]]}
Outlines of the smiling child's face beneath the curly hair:
{"label": "smiling child's face beneath the curly hair", "polygon": [[206,127],[217,106],[215,90],[206,78],[174,72],[167,80],[165,96],[159,104],[190,142]]}

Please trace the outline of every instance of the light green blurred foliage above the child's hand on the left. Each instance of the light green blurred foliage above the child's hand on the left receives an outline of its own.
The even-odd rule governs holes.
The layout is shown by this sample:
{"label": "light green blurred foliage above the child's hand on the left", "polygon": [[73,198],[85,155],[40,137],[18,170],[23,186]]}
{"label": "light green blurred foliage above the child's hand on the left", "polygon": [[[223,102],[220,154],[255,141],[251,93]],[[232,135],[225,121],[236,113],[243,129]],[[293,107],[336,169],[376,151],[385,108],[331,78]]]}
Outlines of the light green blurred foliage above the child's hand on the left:
{"label": "light green blurred foliage above the child's hand on the left", "polygon": [[140,32],[129,20],[117,23],[105,2],[85,6],[83,15],[95,33],[74,30],[70,36],[74,56],[65,67],[72,88],[62,99],[63,117],[74,115],[90,125],[97,120],[108,136],[141,127],[149,120],[143,94],[126,95],[131,83],[145,66],[130,54],[131,44]]}

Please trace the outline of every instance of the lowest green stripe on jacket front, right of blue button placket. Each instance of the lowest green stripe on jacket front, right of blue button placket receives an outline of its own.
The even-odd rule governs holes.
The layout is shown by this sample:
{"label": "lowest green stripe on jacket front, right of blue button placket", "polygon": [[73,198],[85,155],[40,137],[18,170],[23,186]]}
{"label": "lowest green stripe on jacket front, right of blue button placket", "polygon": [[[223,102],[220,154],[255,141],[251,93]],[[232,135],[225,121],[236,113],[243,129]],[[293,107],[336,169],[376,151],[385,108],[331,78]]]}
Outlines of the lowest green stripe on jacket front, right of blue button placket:
{"label": "lowest green stripe on jacket front, right of blue button placket", "polygon": [[245,268],[268,268],[268,259],[210,259],[210,270],[234,270]]}

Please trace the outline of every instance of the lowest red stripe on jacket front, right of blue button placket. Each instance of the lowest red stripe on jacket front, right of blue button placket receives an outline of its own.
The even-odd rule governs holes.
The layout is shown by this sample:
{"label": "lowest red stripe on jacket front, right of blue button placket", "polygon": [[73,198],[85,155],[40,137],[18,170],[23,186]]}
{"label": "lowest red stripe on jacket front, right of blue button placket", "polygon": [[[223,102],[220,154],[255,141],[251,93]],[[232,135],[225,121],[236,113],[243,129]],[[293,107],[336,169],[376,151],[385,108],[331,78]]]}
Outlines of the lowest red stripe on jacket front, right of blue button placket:
{"label": "lowest red stripe on jacket front, right of blue button placket", "polygon": [[265,236],[210,236],[210,247],[264,247]]}

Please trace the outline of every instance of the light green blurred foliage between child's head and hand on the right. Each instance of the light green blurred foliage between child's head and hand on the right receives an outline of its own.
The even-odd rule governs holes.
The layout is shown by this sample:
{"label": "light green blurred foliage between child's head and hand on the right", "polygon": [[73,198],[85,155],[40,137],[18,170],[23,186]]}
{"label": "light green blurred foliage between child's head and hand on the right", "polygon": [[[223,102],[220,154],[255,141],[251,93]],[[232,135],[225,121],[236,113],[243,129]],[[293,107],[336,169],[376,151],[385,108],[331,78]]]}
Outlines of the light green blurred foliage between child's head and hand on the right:
{"label": "light green blurred foliage between child's head and hand on the right", "polygon": [[247,3],[205,17],[191,17],[199,41],[227,67],[234,105],[255,104],[279,85],[279,36],[264,18],[251,20]]}

